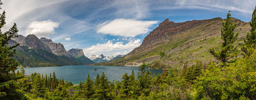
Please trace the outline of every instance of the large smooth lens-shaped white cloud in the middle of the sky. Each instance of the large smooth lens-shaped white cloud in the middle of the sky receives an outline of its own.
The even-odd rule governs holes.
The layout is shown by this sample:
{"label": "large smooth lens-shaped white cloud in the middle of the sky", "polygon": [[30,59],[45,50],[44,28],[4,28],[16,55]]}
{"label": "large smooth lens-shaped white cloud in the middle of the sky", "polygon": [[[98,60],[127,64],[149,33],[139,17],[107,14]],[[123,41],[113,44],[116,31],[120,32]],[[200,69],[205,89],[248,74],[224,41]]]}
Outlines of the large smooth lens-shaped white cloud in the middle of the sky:
{"label": "large smooth lens-shaped white cloud in the middle of the sky", "polygon": [[106,21],[97,26],[97,33],[110,34],[113,36],[135,37],[150,31],[153,24],[158,21],[138,21],[132,19],[115,19]]}

